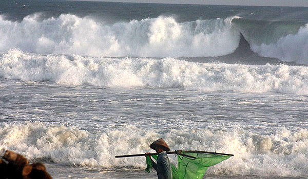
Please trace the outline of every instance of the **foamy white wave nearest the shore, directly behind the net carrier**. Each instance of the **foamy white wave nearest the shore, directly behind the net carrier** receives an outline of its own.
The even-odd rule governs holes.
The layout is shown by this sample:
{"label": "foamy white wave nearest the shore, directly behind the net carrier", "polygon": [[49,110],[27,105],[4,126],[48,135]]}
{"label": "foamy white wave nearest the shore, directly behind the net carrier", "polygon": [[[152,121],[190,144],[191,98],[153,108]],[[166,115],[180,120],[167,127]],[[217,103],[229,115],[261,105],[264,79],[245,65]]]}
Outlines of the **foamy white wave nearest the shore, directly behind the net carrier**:
{"label": "foamy white wave nearest the shore, directly behind the net carrier", "polygon": [[[308,176],[308,131],[285,128],[272,134],[230,130],[170,129],[165,132],[122,126],[93,133],[73,126],[41,122],[1,124],[0,148],[27,158],[85,166],[145,167],[144,158],[115,159],[114,155],[144,153],[157,138],[166,139],[171,150],[198,149],[235,154],[209,168],[224,175]],[[176,159],[171,156],[172,163]]]}

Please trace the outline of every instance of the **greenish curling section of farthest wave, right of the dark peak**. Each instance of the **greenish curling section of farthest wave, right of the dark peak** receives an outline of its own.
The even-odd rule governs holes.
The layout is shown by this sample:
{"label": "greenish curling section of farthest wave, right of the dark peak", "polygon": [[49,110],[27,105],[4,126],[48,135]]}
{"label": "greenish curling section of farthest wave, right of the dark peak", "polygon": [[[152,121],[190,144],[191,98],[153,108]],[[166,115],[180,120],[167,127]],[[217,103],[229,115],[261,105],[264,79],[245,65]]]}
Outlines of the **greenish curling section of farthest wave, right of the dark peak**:
{"label": "greenish curling section of farthest wave, right of the dark peak", "polygon": [[308,25],[297,21],[233,19],[234,26],[262,57],[308,64]]}

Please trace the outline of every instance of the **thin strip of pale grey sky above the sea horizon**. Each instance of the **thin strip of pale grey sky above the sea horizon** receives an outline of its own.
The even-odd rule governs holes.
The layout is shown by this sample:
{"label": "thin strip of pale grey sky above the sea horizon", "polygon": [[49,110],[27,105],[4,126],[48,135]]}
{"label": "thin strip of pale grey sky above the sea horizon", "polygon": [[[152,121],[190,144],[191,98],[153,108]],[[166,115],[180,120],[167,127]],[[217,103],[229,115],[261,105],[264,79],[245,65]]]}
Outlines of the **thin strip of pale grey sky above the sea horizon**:
{"label": "thin strip of pale grey sky above the sea horizon", "polygon": [[[105,1],[105,0],[89,0]],[[308,6],[308,0],[107,0],[108,2],[127,3],[171,3],[171,4],[208,4],[243,6]]]}

